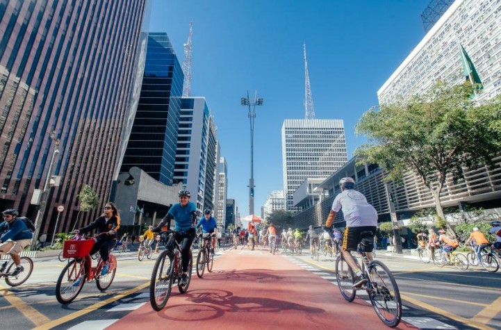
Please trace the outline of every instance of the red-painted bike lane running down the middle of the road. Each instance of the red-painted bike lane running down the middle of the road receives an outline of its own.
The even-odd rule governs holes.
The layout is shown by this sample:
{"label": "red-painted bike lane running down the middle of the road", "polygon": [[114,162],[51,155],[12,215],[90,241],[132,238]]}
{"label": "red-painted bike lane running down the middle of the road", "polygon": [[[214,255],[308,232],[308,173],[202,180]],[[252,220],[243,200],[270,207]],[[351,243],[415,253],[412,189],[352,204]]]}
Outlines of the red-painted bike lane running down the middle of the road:
{"label": "red-painted bike lane running down the middle of the road", "polygon": [[[106,329],[388,329],[362,299],[346,302],[339,289],[281,255],[227,250],[213,272],[193,274],[188,292],[177,286],[162,311],[149,304]],[[401,322],[396,329],[417,329]]]}

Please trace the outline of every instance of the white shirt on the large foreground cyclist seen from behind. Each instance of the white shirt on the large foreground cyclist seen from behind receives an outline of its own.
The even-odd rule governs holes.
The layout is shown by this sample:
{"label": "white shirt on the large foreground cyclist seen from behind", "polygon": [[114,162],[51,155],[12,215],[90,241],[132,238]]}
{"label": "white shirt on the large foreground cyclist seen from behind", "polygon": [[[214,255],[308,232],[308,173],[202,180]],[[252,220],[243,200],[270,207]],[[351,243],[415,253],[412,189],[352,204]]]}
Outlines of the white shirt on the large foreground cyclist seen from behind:
{"label": "white shirt on the large foreground cyclist seen from behind", "polygon": [[332,202],[332,211],[343,209],[347,227],[377,226],[377,211],[365,196],[356,190],[346,189]]}

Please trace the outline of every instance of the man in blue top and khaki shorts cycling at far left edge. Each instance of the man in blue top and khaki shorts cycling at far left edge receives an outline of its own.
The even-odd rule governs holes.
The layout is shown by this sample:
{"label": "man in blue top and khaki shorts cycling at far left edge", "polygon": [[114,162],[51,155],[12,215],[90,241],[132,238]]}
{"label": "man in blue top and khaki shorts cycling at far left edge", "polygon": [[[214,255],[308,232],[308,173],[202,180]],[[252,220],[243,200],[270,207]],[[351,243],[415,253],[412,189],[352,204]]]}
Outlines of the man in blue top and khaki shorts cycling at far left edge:
{"label": "man in blue top and khaki shorts cycling at far left edge", "polygon": [[[24,271],[19,253],[30,244],[33,233],[28,229],[24,221],[18,218],[19,212],[17,210],[9,208],[2,213],[3,222],[0,224],[0,233],[6,232],[0,236],[0,254],[8,253],[13,258],[16,269],[11,275],[15,276]],[[6,269],[7,263],[8,261],[1,265],[0,272]]]}

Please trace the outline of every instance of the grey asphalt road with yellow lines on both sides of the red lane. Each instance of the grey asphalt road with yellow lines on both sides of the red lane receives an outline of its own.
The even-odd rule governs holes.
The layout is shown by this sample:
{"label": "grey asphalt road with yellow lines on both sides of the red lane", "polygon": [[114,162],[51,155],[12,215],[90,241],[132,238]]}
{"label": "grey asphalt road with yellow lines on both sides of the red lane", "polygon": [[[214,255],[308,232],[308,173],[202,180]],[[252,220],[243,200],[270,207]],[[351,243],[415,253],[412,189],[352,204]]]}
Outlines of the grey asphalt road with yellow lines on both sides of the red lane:
{"label": "grey asphalt road with yellow lines on both sides of the red lane", "polygon": [[[397,279],[405,307],[404,320],[412,321],[411,324],[421,329],[501,329],[500,272],[491,274],[477,267],[461,272],[452,267],[424,264],[409,255],[378,252],[377,258],[388,265]],[[227,253],[220,251],[218,257],[223,258]],[[85,283],[79,297],[65,306],[54,296],[56,279],[65,263],[56,258],[35,259],[33,274],[22,286],[10,288],[0,283],[2,328],[69,329],[85,320],[109,317],[110,306],[117,306],[121,301],[146,306],[149,304],[147,286],[156,255],[153,260],[143,261],[138,261],[135,252],[115,256],[118,268],[110,288],[99,292],[95,283]],[[304,250],[301,256],[277,257],[301,262],[307,265],[306,270],[335,275],[334,258],[329,256],[313,261]],[[130,312],[116,311],[113,317],[120,319]]]}

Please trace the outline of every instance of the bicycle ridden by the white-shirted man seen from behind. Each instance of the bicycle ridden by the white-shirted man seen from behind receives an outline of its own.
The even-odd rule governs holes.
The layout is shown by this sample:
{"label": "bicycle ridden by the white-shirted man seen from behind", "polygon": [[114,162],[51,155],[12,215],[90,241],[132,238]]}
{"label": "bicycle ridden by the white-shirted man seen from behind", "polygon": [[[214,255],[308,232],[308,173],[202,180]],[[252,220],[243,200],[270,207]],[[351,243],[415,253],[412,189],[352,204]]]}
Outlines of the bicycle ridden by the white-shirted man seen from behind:
{"label": "bicycle ridden by the white-shirted man seen from behind", "polygon": [[[379,319],[388,327],[396,327],[402,319],[402,299],[397,281],[384,263],[379,260],[370,261],[361,245],[357,252],[362,261],[361,270],[367,277],[367,283],[362,289],[367,291],[370,304]],[[336,258],[336,274],[341,295],[347,302],[352,302],[356,296],[356,288],[352,286],[355,274],[343,258],[343,253]]]}

